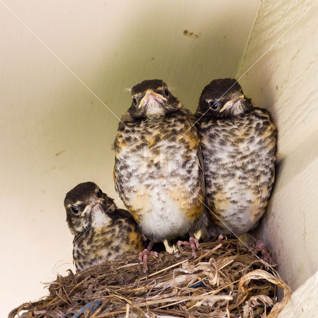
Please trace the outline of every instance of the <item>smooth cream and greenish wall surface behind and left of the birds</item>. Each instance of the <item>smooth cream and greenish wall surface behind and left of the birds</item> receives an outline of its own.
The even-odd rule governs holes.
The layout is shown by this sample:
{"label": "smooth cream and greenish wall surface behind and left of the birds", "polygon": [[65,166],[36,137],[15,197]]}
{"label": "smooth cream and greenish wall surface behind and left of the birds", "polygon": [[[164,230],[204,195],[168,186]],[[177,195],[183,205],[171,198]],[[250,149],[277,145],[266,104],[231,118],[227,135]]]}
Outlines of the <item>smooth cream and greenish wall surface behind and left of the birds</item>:
{"label": "smooth cream and greenish wall surface behind and left of the birds", "polygon": [[153,78],[173,85],[194,110],[204,85],[237,74],[260,6],[259,0],[3,1],[25,25],[1,0],[1,316],[45,296],[40,281],[74,268],[67,191],[92,180],[118,200],[112,180],[118,120],[84,84],[117,117],[131,102],[123,88]]}

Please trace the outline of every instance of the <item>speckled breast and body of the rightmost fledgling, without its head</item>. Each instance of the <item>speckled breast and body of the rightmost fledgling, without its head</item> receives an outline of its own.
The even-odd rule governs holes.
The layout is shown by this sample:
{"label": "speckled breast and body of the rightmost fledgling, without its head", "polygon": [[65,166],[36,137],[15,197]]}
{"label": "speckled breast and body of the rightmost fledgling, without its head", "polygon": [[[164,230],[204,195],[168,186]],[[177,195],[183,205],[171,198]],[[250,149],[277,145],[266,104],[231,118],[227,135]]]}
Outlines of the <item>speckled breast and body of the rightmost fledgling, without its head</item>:
{"label": "speckled breast and body of the rightmost fledgling, without its head", "polygon": [[266,110],[236,118],[203,117],[198,133],[206,199],[215,234],[242,234],[266,210],[274,183],[276,129]]}

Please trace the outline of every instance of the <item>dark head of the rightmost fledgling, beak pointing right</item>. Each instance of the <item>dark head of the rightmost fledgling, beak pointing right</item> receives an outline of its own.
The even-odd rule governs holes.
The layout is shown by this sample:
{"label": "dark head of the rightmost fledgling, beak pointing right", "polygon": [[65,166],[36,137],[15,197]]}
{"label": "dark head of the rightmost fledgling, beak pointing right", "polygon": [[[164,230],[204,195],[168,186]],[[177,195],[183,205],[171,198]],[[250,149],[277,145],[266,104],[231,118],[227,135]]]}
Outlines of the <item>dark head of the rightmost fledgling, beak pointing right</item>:
{"label": "dark head of the rightmost fledgling, beak pointing right", "polygon": [[204,87],[196,113],[224,118],[237,116],[251,107],[236,79],[215,79]]}

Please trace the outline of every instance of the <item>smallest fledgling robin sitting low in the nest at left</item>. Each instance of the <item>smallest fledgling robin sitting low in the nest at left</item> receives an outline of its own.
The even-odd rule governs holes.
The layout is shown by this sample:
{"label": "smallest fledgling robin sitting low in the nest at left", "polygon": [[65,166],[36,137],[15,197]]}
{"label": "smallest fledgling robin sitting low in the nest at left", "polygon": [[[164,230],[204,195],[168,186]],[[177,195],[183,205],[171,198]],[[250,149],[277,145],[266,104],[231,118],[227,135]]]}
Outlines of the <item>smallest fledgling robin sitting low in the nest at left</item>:
{"label": "smallest fledgling robin sitting low in the nest at left", "polygon": [[95,183],[79,183],[66,194],[64,206],[77,271],[145,248],[146,239],[130,213],[118,209]]}

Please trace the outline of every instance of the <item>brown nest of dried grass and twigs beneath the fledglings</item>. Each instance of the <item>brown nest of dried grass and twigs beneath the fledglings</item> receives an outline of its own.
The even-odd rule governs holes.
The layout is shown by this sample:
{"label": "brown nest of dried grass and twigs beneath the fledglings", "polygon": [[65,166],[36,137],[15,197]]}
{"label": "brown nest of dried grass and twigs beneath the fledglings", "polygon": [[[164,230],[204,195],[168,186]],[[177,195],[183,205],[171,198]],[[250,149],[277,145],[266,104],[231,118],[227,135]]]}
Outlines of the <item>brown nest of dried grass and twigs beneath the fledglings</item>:
{"label": "brown nest of dried grass and twigs beneath the fledglings", "polygon": [[[9,318],[277,317],[290,289],[237,239],[149,256],[146,277],[136,255],[106,261],[46,283],[50,295],[14,309]],[[284,297],[276,302],[276,287]]]}

